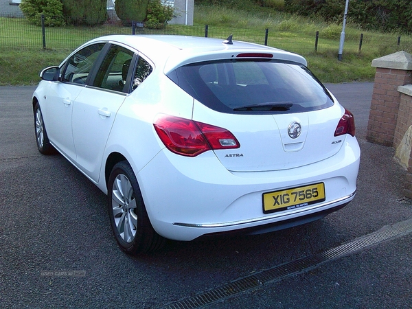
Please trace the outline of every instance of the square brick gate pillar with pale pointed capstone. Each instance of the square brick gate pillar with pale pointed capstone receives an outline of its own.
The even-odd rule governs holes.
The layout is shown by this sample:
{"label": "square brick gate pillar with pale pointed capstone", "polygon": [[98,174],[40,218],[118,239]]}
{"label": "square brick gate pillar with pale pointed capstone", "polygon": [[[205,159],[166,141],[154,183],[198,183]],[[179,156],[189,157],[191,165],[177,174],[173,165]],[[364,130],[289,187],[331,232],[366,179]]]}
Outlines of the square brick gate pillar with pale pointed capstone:
{"label": "square brick gate pillar with pale pointed capstone", "polygon": [[374,59],[372,67],[376,67],[376,74],[366,139],[391,147],[400,106],[398,87],[412,82],[412,56],[397,52]]}

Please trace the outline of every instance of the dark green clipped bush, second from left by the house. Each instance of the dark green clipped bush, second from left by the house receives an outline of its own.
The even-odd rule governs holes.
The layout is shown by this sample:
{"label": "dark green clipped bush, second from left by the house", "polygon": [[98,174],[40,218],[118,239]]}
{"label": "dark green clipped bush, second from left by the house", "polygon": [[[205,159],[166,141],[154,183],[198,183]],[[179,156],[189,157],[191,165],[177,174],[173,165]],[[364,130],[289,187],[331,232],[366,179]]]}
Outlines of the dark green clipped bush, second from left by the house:
{"label": "dark green clipped bush, second from left by the house", "polygon": [[101,25],[107,20],[106,0],[62,0],[63,14],[74,25]]}

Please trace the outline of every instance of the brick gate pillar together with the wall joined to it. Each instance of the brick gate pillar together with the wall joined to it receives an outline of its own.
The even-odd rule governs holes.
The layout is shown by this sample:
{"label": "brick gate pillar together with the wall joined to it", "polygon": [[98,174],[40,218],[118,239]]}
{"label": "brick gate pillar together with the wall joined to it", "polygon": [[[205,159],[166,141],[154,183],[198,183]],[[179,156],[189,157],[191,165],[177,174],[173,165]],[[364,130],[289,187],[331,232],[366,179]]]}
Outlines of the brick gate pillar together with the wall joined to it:
{"label": "brick gate pillar together with the wall joined to it", "polygon": [[412,198],[412,56],[398,52],[372,61],[376,67],[367,141],[393,147],[408,170],[404,195]]}

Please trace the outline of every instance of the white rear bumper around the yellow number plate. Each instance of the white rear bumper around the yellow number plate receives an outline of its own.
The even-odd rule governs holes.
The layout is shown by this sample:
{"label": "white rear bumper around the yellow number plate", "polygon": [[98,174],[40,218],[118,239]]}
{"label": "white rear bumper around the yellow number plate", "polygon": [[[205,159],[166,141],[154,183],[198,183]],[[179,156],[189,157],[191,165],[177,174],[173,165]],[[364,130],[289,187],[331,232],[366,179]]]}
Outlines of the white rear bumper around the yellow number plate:
{"label": "white rear bumper around the yellow number plate", "polygon": [[[269,172],[229,172],[214,152],[186,158],[163,150],[137,180],[157,233],[194,240],[221,233],[264,233],[322,218],[354,198],[359,161],[353,137],[326,160]],[[264,214],[262,194],[320,182],[325,184],[324,202]]]}

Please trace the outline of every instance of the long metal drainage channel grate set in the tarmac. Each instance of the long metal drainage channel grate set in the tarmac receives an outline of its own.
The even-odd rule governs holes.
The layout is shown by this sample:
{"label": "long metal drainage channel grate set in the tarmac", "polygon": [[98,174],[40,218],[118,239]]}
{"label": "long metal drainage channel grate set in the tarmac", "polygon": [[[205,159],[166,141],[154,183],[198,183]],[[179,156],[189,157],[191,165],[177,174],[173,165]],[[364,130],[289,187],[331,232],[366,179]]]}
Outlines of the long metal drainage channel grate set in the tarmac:
{"label": "long metal drainage channel grate set in the tarmac", "polygon": [[401,236],[407,235],[412,231],[412,219],[398,222],[390,227],[384,227],[379,231],[370,233],[369,235],[357,238],[347,244],[341,244],[341,246],[323,251],[321,253],[310,255],[306,258],[301,258],[281,264],[273,268],[268,268],[259,273],[254,273],[251,276],[237,279],[224,286],[219,286],[211,290],[206,290],[203,293],[199,293],[193,297],[181,299],[170,303],[161,309],[196,309],[209,306],[216,301],[222,301],[229,297],[236,296],[240,293],[244,293],[247,290],[252,290],[262,286],[262,284],[268,284],[280,281],[286,277],[297,275],[310,271],[317,266],[326,262],[334,261],[339,258],[343,258],[352,253],[368,249],[380,242],[385,242]]}

